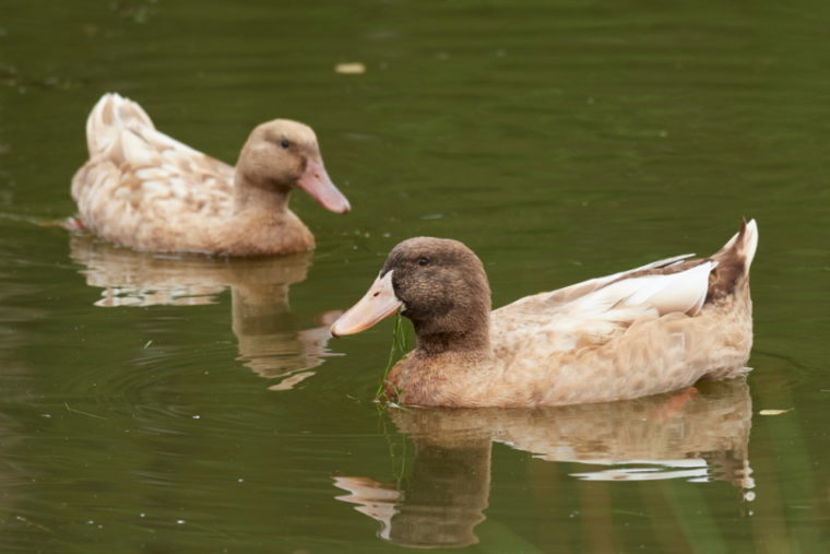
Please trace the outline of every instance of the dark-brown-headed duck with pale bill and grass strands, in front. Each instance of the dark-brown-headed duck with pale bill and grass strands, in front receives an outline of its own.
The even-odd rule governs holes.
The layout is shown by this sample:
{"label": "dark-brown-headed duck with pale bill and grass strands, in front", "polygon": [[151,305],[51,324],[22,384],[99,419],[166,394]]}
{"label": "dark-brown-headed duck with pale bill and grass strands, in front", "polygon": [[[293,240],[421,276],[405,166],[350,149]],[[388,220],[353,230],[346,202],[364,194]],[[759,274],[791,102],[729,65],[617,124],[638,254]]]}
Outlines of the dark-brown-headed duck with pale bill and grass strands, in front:
{"label": "dark-brown-headed duck with pale bill and grass strands, in front", "polygon": [[389,254],[333,337],[398,311],[417,345],[388,373],[392,403],[536,408],[610,402],[746,374],[752,346],[755,220],[707,258],[675,256],[491,311],[481,259],[415,237]]}

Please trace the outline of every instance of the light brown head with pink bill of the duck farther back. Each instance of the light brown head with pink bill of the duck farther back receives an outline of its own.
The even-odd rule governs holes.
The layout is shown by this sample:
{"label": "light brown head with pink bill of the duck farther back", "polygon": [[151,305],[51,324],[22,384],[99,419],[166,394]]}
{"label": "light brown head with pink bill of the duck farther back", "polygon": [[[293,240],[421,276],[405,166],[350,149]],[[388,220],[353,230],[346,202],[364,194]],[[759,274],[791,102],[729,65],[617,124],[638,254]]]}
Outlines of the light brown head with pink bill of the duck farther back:
{"label": "light brown head with pink bill of the duck farther back", "polygon": [[242,146],[236,168],[249,186],[283,192],[297,187],[329,211],[345,213],[351,209],[325,172],[315,131],[298,121],[274,119],[257,126]]}

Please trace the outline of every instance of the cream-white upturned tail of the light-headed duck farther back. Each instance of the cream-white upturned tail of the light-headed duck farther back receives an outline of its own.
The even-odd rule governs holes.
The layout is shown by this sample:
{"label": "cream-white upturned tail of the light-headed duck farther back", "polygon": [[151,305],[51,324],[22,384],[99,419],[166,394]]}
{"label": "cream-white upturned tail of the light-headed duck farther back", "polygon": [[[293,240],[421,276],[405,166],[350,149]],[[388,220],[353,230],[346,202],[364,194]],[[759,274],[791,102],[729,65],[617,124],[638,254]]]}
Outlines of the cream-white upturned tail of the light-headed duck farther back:
{"label": "cream-white upturned tail of the light-headed duck farther back", "polygon": [[86,119],[86,145],[90,156],[104,152],[121,134],[122,129],[155,129],[141,106],[118,93],[107,93],[92,108]]}

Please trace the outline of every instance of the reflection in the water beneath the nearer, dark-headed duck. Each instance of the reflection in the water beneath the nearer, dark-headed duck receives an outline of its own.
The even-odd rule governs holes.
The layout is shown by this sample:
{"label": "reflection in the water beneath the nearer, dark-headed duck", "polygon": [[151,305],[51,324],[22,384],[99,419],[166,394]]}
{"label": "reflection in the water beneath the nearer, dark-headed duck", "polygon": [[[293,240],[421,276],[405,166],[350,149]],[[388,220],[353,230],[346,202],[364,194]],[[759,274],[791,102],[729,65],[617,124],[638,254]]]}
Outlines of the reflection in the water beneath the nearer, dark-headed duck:
{"label": "reflection in the water beneath the nearer, dark-headed duck", "polygon": [[742,378],[624,402],[523,409],[391,412],[415,445],[401,485],[337,476],[337,499],[381,522],[408,546],[464,546],[477,539],[490,487],[490,445],[588,464],[580,480],[728,481],[751,498],[749,387]]}

